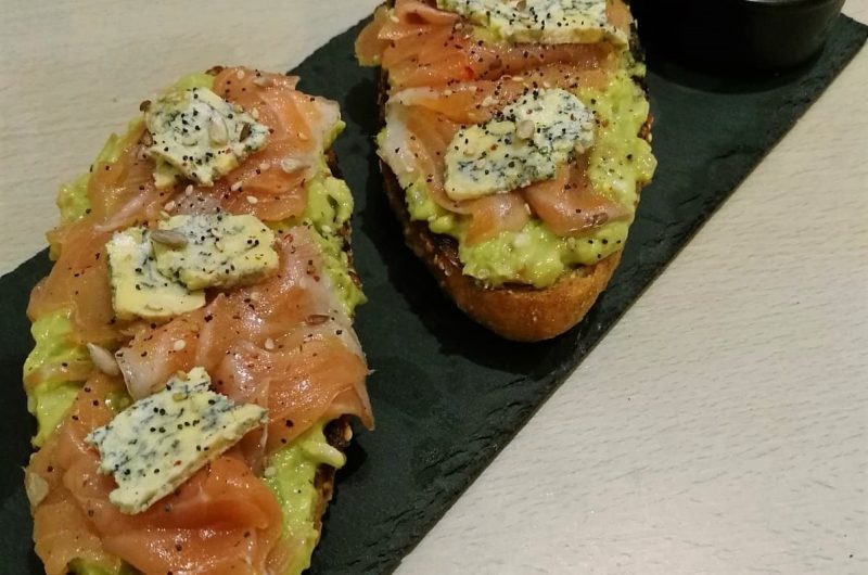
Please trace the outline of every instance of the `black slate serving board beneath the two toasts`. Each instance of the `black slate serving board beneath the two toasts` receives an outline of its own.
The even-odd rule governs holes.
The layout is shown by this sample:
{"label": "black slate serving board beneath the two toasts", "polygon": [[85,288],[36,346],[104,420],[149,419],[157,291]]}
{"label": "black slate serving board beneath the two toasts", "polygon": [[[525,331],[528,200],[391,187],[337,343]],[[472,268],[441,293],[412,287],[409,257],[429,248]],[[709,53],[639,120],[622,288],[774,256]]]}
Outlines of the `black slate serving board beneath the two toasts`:
{"label": "black slate serving board beneath the two toasts", "polygon": [[[315,574],[394,570],[868,36],[868,27],[842,16],[812,63],[753,80],[705,77],[655,62],[651,53],[660,168],[642,193],[621,267],[580,325],[548,343],[520,345],[464,318],[404,247],[374,162],[374,72],[353,60],[358,29],[294,71],[302,89],[341,102],[347,122],[335,148],[357,197],[356,265],[370,298],[357,330],[375,370],[369,388],[376,432],[357,434],[339,473]],[[17,575],[42,573],[22,487],[33,422],[20,373],[31,345],[24,309],[49,267],[42,253],[0,279],[0,572]]]}

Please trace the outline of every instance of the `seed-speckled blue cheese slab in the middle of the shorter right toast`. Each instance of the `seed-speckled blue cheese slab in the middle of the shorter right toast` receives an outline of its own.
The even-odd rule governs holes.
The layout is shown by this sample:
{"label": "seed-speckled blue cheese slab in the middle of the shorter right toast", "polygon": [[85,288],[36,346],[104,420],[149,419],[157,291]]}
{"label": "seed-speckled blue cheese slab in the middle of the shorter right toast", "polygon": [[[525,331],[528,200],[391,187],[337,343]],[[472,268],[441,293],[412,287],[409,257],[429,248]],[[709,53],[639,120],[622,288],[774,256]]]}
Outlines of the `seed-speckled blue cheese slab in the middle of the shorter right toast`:
{"label": "seed-speckled blue cheese slab in the middle of the shorter right toast", "polygon": [[458,130],[446,152],[446,194],[472,200],[552,179],[593,144],[593,126],[569,91],[528,90],[487,123]]}

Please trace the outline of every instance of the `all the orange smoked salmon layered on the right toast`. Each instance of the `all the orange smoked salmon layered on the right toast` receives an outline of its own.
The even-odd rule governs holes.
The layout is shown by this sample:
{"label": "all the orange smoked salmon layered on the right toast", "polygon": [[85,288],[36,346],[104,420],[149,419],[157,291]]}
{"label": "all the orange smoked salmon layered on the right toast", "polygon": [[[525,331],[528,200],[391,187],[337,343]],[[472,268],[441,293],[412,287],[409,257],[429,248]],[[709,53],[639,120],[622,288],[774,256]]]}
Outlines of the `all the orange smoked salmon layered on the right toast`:
{"label": "all the orange smoked salmon layered on the right toast", "polygon": [[[607,11],[615,27],[629,29],[631,16],[622,0],[610,0]],[[531,213],[560,235],[626,215],[593,192],[586,164],[525,190],[474,201],[455,202],[444,190],[445,153],[461,126],[488,122],[531,89],[603,89],[618,66],[617,50],[608,41],[481,41],[473,26],[433,1],[396,0],[392,11],[378,9],[357,38],[356,52],[362,64],[381,65],[390,79],[381,156],[399,177],[419,173],[437,205],[470,216],[468,243],[521,230]]]}

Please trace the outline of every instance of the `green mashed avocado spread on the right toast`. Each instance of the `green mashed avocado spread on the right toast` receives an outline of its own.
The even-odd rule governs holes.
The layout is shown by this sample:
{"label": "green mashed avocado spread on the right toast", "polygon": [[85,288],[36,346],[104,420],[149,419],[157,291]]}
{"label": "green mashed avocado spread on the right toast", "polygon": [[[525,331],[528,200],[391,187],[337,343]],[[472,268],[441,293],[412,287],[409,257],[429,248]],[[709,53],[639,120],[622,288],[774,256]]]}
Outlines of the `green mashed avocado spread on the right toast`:
{"label": "green mashed avocado spread on the right toast", "polygon": [[[598,122],[595,145],[589,152],[588,175],[595,190],[626,207],[633,215],[638,188],[651,180],[656,161],[651,146],[638,133],[649,105],[634,82],[644,76],[644,65],[623,52],[623,65],[602,90],[580,89],[575,95]],[[388,125],[378,143],[386,139]],[[623,247],[633,217],[593,228],[579,237],[561,238],[534,217],[520,231],[502,231],[474,244],[465,241],[470,216],[437,205],[424,179],[401,181],[410,217],[426,221],[431,231],[458,240],[458,255],[467,276],[489,286],[523,283],[547,288],[577,266],[593,265]]]}

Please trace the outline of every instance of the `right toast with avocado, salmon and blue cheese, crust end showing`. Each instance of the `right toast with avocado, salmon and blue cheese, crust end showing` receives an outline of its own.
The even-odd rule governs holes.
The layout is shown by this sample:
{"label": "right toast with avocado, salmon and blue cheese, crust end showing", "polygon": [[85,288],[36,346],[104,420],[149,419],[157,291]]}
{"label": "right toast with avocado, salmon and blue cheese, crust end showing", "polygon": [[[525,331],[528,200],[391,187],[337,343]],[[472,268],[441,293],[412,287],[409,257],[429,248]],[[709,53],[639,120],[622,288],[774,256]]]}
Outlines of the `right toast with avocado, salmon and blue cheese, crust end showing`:
{"label": "right toast with avocado, salmon and blue cheese, crust end showing", "polygon": [[395,0],[356,43],[379,65],[386,192],[441,286],[505,337],[578,322],[651,179],[622,0]]}

